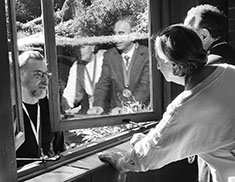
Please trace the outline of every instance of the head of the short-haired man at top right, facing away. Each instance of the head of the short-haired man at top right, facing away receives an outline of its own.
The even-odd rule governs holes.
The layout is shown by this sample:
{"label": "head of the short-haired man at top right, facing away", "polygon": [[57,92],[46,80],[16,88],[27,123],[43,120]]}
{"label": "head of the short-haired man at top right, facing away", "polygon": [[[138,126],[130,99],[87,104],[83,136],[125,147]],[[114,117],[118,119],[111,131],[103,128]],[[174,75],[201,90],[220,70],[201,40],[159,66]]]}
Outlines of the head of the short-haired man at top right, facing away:
{"label": "head of the short-haired man at top right, facing away", "polygon": [[205,4],[191,8],[184,20],[202,40],[204,49],[218,39],[225,39],[227,17],[217,7]]}

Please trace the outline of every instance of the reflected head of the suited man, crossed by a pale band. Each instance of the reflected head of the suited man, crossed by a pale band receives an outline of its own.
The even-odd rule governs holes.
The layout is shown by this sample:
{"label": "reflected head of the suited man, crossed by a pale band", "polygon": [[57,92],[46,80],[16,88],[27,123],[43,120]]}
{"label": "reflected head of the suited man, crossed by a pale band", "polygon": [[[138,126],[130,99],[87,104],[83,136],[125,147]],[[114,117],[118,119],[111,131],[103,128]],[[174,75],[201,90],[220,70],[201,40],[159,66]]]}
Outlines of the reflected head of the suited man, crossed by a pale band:
{"label": "reflected head of the suited man, crossed by a pale band", "polygon": [[[132,28],[134,27],[133,17],[126,16],[120,18],[114,25],[115,35],[124,35],[132,33]],[[116,43],[116,47],[121,52],[128,52],[133,45],[132,41],[120,41]]]}

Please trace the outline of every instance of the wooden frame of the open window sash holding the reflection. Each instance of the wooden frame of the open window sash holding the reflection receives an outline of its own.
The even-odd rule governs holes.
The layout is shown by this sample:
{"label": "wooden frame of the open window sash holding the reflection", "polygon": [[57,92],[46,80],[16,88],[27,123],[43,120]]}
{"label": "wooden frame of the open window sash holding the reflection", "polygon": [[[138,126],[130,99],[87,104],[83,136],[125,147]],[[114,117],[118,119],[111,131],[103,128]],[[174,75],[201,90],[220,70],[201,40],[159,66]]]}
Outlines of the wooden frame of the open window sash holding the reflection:
{"label": "wooden frame of the open window sash holding the reflection", "polygon": [[[150,3],[153,0],[148,0],[148,8],[150,9]],[[54,131],[66,131],[71,129],[80,128],[91,128],[91,127],[101,127],[124,124],[128,121],[142,122],[142,121],[156,121],[159,120],[162,114],[162,76],[160,72],[156,69],[156,61],[153,52],[153,42],[151,41],[152,31],[151,25],[149,28],[149,59],[150,59],[150,82],[151,82],[151,96],[152,96],[152,106],[153,111],[135,113],[135,114],[125,114],[125,115],[115,115],[106,116],[101,115],[99,117],[88,117],[83,119],[69,118],[60,119],[60,102],[59,102],[59,87],[58,87],[58,65],[57,65],[57,51],[56,51],[56,38],[54,30],[54,16],[53,16],[53,4],[48,0],[41,0],[42,2],[42,14],[44,23],[44,39],[45,39],[45,57],[48,60],[48,69],[52,72],[53,77],[49,83],[49,106],[50,106],[50,119],[52,129]],[[153,2],[152,2],[153,3]],[[149,11],[150,12],[150,11]],[[151,16],[149,13],[149,21],[151,22]],[[53,61],[51,61],[53,60]],[[154,77],[154,81],[153,81]],[[158,93],[158,94],[153,94]]]}

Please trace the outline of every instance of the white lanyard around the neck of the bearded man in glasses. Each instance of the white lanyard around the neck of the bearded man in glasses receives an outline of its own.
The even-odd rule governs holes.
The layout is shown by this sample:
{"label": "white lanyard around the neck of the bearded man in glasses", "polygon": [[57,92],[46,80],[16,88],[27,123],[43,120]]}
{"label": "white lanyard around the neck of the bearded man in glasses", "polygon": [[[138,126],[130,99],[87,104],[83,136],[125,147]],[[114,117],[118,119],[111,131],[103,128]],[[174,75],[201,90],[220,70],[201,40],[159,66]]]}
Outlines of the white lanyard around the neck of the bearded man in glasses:
{"label": "white lanyard around the neck of the bearded man in glasses", "polygon": [[22,103],[22,107],[26,113],[26,115],[28,116],[29,118],[29,121],[30,121],[30,125],[31,125],[31,129],[33,131],[33,134],[34,134],[34,137],[37,141],[37,144],[39,146],[39,128],[40,128],[40,106],[39,104],[37,104],[37,128],[35,128],[35,125],[33,124],[33,121],[31,120],[30,116],[29,116],[29,113],[24,105],[24,103]]}

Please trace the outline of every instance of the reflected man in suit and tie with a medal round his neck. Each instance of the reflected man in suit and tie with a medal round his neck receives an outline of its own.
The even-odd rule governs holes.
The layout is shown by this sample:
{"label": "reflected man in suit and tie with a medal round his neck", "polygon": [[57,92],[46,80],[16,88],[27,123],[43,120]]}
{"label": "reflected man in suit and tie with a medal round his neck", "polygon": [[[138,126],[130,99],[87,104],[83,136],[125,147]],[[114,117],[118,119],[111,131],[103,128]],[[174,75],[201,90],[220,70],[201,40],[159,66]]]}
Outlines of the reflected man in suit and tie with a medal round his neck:
{"label": "reflected man in suit and tie with a medal round his neck", "polygon": [[[133,27],[133,17],[122,17],[114,25],[114,34],[130,34]],[[129,99],[149,104],[149,82],[148,48],[130,40],[116,42],[104,54],[101,77],[88,114],[123,113],[122,102]]]}

